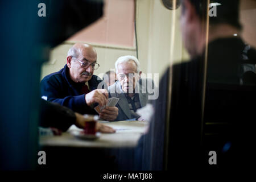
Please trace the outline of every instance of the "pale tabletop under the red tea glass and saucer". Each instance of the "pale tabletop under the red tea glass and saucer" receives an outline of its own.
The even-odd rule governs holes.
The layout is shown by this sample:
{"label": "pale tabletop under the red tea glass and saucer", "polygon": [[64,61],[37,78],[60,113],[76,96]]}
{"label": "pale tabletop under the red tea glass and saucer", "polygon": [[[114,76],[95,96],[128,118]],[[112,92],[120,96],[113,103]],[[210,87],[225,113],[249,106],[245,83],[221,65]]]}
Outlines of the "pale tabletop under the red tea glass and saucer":
{"label": "pale tabletop under the red tea glass and saucer", "polygon": [[[102,121],[99,121],[102,122]],[[60,136],[43,136],[39,138],[39,145],[42,147],[93,147],[93,148],[115,148],[115,147],[135,147],[139,138],[148,127],[146,121],[118,121],[104,122],[104,125],[113,127],[116,133],[101,134],[96,140],[83,140],[74,137],[72,130],[78,129],[75,125]]]}

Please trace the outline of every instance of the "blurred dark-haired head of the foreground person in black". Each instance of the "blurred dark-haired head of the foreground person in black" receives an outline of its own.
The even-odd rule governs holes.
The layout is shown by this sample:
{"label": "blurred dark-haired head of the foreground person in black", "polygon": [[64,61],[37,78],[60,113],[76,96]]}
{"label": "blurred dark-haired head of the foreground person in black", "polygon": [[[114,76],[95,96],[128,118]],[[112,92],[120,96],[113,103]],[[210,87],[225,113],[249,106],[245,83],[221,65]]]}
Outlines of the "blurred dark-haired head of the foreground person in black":
{"label": "blurred dark-haired head of the foreground person in black", "polygon": [[[183,0],[180,26],[184,46],[192,57],[200,53],[200,46],[205,43],[207,16],[209,16],[209,30],[223,25],[241,30],[239,4],[239,0],[210,0],[210,9],[213,5],[216,6],[217,16],[209,16],[208,1]],[[217,32],[217,34],[223,33],[225,32]]]}

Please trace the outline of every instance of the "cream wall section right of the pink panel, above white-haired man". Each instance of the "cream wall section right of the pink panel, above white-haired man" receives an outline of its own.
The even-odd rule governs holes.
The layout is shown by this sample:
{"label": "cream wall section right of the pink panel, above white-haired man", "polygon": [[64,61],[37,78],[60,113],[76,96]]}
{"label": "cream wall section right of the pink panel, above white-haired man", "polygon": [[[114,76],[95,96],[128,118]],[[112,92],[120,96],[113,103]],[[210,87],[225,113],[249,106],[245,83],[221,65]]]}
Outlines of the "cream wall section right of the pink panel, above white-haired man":
{"label": "cream wall section right of the pink panel, above white-haired man", "polygon": [[180,8],[166,9],[160,0],[137,1],[138,57],[148,73],[160,76],[171,63],[188,59],[180,26]]}

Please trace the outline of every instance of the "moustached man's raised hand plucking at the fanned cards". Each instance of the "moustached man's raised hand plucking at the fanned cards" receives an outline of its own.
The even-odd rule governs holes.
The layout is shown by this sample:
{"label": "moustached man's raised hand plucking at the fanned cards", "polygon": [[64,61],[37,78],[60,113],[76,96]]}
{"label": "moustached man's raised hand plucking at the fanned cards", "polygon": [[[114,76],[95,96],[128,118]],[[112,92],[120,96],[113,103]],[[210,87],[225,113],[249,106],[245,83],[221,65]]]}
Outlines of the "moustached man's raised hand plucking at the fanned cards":
{"label": "moustached man's raised hand plucking at the fanned cards", "polygon": [[106,89],[96,89],[85,94],[85,102],[87,105],[98,103],[100,106],[107,104],[109,93]]}

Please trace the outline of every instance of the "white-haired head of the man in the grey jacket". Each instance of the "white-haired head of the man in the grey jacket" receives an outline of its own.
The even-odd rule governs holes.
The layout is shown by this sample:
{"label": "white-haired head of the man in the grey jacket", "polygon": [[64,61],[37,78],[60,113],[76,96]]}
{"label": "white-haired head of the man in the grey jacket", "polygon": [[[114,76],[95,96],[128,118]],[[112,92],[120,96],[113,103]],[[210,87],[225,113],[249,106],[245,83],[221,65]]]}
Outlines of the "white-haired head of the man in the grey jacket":
{"label": "white-haired head of the man in the grey jacket", "polygon": [[115,62],[115,73],[125,93],[134,93],[135,86],[141,77],[141,67],[134,56],[122,56]]}

